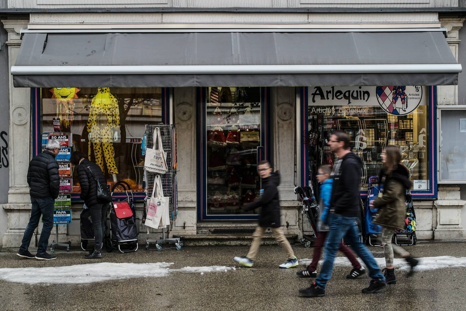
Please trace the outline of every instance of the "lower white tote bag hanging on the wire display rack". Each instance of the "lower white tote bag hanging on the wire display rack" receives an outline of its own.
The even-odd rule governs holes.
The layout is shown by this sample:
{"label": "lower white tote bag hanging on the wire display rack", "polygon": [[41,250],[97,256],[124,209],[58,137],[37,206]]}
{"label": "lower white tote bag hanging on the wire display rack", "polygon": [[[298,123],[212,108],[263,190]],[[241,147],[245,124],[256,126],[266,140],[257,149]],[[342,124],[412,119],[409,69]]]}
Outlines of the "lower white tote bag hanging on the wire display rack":
{"label": "lower white tote bag hanging on the wire display rack", "polygon": [[159,227],[165,227],[170,224],[170,213],[168,209],[170,198],[164,197],[164,191],[162,189],[162,181],[160,176],[156,175],[154,180],[154,188],[152,189],[152,195],[149,200],[149,204],[146,204],[146,221],[144,225],[154,229]]}

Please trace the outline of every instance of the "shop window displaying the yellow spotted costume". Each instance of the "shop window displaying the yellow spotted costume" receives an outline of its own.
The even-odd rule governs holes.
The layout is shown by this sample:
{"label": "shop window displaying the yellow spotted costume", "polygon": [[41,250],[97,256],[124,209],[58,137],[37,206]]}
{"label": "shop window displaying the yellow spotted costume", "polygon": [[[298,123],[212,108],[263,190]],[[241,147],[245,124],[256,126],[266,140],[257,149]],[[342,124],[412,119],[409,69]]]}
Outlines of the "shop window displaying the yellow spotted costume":
{"label": "shop window displaying the yellow spotted costume", "polygon": [[[158,124],[161,88],[42,88],[42,132],[71,132],[72,151],[89,155],[107,181],[124,180],[133,192],[143,192],[145,124]],[[77,171],[73,192],[81,192]]]}

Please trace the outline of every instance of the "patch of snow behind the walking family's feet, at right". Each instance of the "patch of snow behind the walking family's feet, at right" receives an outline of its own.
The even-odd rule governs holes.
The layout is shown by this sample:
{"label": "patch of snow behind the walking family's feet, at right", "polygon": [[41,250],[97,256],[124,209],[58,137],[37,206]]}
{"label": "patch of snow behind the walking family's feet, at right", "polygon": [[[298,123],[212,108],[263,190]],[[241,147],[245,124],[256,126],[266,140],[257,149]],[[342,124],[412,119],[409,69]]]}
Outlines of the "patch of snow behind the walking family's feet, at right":
{"label": "patch of snow behind the walking family's feet, at right", "polygon": [[[364,264],[361,258],[357,258],[361,264]],[[377,264],[381,268],[385,268],[385,258],[375,258]],[[436,257],[421,257],[416,258],[419,260],[419,264],[416,266],[416,271],[435,270],[442,268],[459,268],[466,267],[466,257],[453,257],[453,256],[436,256]],[[304,258],[299,261],[300,264],[308,265],[312,262],[311,259]],[[323,260],[319,260],[319,264],[322,264]],[[339,267],[351,267],[351,263],[346,257],[336,257],[335,266]],[[403,258],[395,258],[393,261],[395,269],[398,270],[409,270],[410,266]]]}

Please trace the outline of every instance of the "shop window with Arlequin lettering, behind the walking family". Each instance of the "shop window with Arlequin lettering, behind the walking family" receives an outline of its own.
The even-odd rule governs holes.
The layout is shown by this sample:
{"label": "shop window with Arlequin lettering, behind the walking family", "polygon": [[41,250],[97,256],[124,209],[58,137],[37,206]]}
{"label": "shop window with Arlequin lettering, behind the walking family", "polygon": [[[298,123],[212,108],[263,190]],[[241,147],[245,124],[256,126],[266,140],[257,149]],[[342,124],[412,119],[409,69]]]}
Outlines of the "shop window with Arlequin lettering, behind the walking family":
{"label": "shop window with Arlequin lettering, behind the walking family", "polygon": [[429,190],[429,124],[427,95],[421,86],[309,87],[309,172],[333,165],[327,141],[333,131],[345,131],[351,151],[363,160],[361,190],[383,166],[386,145],[397,145],[410,170],[414,190]]}

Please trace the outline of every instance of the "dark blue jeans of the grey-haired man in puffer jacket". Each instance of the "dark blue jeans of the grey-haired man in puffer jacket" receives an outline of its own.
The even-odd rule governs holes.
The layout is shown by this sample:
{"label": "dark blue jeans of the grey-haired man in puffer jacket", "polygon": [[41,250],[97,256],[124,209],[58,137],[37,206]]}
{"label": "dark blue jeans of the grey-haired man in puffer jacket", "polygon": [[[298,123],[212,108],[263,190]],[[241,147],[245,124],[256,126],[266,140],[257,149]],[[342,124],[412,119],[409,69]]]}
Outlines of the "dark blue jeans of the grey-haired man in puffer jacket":
{"label": "dark blue jeans of the grey-haired man in puffer jacket", "polygon": [[33,198],[31,197],[31,218],[29,223],[24,230],[23,241],[20,249],[27,250],[31,243],[32,235],[34,234],[35,228],[39,225],[42,215],[42,232],[39,242],[37,243],[37,253],[41,254],[46,251],[48,245],[48,238],[50,237],[50,231],[54,228],[54,203],[55,200],[52,197],[47,198]]}

